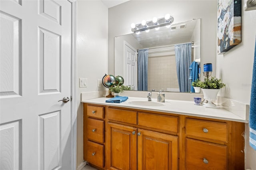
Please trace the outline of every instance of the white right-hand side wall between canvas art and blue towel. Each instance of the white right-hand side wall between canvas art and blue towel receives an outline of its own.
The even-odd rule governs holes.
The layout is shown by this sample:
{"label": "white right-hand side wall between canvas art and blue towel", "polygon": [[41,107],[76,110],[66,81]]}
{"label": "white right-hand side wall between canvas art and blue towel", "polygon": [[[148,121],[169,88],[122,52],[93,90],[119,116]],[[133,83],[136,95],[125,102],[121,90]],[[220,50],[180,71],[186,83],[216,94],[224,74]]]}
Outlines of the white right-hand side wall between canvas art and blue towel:
{"label": "white right-hand side wall between canvas art and blue towel", "polygon": [[[244,3],[244,1],[242,1],[242,3]],[[226,84],[224,90],[221,91],[221,95],[248,105],[250,104],[252,86],[255,37],[256,10],[242,10],[242,42],[224,55],[216,55],[216,76],[221,78]],[[256,151],[249,146],[248,135],[249,128],[248,124],[246,124],[245,168],[256,170]]]}

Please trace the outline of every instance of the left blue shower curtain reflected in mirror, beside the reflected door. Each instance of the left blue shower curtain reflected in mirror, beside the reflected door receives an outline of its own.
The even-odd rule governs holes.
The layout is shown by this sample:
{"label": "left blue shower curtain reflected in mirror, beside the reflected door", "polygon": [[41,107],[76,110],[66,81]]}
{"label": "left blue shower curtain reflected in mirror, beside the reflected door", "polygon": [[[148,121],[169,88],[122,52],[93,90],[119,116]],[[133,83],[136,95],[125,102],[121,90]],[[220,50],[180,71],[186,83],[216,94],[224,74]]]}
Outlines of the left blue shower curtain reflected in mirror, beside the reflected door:
{"label": "left blue shower curtain reflected in mirror, beside the reflected door", "polygon": [[148,90],[148,48],[138,51],[138,90]]}

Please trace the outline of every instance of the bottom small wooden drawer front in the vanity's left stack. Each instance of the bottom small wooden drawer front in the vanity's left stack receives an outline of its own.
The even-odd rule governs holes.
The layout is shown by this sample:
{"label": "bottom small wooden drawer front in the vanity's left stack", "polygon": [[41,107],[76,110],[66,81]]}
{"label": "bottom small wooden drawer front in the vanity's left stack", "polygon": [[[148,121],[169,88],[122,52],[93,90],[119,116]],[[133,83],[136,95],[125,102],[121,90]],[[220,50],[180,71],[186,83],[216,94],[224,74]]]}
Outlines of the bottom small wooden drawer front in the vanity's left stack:
{"label": "bottom small wooden drawer front in the vanity's left stack", "polygon": [[104,167],[104,145],[87,141],[87,161]]}

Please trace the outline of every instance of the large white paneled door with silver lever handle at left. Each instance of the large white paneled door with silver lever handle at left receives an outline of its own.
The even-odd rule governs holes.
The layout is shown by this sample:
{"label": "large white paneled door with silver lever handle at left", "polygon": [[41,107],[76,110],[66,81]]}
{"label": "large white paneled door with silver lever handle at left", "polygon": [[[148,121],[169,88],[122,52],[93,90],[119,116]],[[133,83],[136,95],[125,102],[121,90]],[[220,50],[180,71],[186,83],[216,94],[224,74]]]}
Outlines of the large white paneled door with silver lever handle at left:
{"label": "large white paneled door with silver lever handle at left", "polygon": [[68,0],[0,0],[1,170],[72,169],[71,22]]}

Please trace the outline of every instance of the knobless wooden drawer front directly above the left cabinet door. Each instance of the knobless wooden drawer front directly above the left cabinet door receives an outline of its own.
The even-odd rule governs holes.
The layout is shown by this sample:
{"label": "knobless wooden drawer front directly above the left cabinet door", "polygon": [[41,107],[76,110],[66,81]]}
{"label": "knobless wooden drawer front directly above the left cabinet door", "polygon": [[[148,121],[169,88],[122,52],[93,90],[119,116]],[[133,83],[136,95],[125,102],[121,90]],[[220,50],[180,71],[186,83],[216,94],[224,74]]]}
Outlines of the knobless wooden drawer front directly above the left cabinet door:
{"label": "knobless wooden drawer front directly above the left cabinet door", "polygon": [[137,124],[137,112],[122,109],[108,109],[108,119],[113,121]]}

